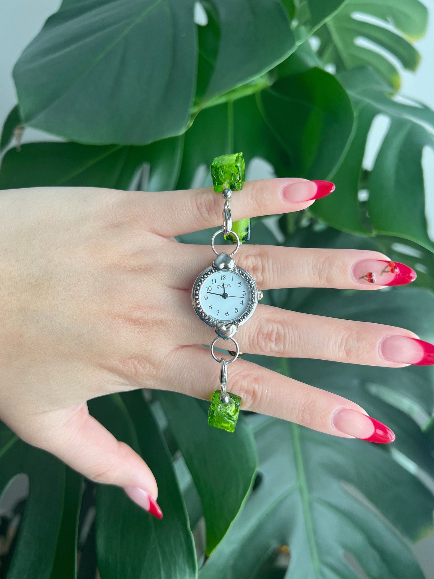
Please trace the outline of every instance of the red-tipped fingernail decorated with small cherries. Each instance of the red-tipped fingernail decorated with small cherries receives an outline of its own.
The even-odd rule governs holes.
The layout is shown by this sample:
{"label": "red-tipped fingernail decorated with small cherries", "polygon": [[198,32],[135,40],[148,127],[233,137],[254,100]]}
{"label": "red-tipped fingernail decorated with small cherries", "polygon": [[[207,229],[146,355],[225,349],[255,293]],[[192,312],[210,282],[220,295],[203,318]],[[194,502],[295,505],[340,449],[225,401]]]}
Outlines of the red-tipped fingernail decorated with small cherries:
{"label": "red-tipped fingernail decorated with small cherries", "polygon": [[351,274],[357,283],[374,285],[404,285],[417,277],[408,265],[387,259],[361,259],[354,264]]}

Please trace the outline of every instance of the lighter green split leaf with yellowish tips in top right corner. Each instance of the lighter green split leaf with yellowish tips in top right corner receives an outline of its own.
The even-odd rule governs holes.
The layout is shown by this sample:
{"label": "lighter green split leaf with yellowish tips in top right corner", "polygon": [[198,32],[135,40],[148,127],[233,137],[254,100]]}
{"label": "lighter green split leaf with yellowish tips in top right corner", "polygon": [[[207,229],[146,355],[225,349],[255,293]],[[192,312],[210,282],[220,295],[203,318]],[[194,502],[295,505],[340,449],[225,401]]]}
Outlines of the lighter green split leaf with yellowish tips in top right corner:
{"label": "lighter green split leaf with yellowish tips in top right corner", "polygon": [[318,54],[338,72],[370,65],[398,90],[398,70],[388,55],[414,70],[420,56],[411,42],[424,36],[427,20],[428,11],[418,0],[348,0],[318,30]]}

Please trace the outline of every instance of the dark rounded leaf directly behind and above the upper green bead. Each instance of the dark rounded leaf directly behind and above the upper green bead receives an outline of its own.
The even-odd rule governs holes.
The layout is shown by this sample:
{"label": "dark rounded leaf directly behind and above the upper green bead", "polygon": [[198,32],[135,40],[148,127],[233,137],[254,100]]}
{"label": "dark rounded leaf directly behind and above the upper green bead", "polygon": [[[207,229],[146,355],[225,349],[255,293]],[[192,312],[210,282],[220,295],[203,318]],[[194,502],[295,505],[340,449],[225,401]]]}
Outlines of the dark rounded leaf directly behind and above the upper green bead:
{"label": "dark rounded leaf directly behind and above the upper green bead", "polygon": [[177,187],[192,186],[198,168],[222,151],[242,151],[246,163],[263,157],[279,177],[325,179],[340,162],[352,124],[351,102],[333,75],[312,68],[285,76],[256,96],[197,115],[185,135]]}

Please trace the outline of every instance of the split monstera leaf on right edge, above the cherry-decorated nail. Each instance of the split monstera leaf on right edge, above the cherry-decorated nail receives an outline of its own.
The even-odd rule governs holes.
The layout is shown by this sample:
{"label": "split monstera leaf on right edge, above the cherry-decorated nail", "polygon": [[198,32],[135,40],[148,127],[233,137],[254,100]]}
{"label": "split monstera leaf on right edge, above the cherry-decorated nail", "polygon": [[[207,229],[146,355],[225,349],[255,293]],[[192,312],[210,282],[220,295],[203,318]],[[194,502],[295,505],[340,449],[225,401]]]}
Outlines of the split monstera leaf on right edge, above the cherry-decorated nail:
{"label": "split monstera leaf on right edge, above the cherry-decorated nail", "polygon": [[[356,126],[347,155],[333,175],[336,192],[316,203],[313,211],[336,228],[402,237],[433,251],[426,231],[421,159],[425,146],[434,148],[426,129],[434,126],[434,112],[418,103],[411,106],[388,98],[387,85],[372,69],[344,72],[339,79],[350,94]],[[390,126],[374,168],[361,184],[367,135],[377,115],[387,116]],[[369,215],[362,221],[358,192],[365,188]]]}

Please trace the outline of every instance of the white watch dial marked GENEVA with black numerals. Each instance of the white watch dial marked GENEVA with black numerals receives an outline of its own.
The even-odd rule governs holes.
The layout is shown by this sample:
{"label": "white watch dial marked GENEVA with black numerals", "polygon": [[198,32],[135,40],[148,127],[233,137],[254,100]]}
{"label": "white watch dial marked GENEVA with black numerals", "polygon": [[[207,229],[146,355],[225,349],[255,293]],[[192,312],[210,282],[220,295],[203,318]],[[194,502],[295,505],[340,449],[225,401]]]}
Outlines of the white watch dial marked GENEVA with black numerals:
{"label": "white watch dial marked GENEVA with black numerals", "polygon": [[199,301],[208,316],[217,321],[237,320],[252,299],[247,280],[233,270],[213,273],[200,288]]}

